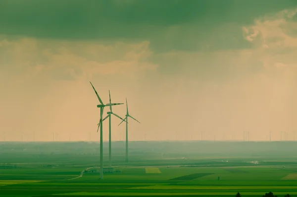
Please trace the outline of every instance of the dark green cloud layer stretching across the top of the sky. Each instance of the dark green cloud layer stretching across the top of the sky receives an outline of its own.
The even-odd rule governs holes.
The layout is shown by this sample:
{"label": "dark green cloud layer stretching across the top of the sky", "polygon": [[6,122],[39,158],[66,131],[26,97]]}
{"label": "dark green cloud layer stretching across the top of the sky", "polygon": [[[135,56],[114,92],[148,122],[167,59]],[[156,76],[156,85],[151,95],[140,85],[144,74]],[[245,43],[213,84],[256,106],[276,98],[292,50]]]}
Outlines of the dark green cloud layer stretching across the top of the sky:
{"label": "dark green cloud layer stretching across the top of the sky", "polygon": [[[296,4],[295,0],[1,0],[0,34],[148,40],[155,52],[247,48],[241,25]],[[229,24],[234,28],[228,30]],[[217,36],[222,32],[230,36]]]}

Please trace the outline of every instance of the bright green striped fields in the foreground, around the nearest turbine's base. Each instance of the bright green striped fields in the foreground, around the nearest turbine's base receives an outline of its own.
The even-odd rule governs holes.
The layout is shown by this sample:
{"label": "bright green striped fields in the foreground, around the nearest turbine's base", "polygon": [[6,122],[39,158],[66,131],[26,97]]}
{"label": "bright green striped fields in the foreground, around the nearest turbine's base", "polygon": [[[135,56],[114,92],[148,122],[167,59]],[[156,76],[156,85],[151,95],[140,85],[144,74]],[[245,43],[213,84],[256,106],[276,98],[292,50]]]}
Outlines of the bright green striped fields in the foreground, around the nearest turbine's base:
{"label": "bright green striped fields in the foreground, around the nearest turbine's base", "polygon": [[120,174],[105,174],[104,180],[99,180],[99,174],[69,180],[80,174],[77,169],[1,169],[0,196],[234,196],[237,192],[243,196],[260,197],[268,192],[297,196],[297,180],[286,178],[295,174],[295,168],[119,169]]}

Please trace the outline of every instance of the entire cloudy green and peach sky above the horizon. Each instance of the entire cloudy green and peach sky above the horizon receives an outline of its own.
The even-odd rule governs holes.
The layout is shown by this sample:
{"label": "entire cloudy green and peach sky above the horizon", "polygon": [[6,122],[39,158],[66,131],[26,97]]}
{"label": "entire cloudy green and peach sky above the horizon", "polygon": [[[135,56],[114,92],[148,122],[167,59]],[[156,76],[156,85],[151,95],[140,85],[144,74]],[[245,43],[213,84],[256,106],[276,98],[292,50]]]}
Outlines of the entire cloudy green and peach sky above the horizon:
{"label": "entire cloudy green and peach sky above the horizon", "polygon": [[1,0],[0,140],[98,141],[89,81],[129,140],[292,140],[296,54],[296,0]]}

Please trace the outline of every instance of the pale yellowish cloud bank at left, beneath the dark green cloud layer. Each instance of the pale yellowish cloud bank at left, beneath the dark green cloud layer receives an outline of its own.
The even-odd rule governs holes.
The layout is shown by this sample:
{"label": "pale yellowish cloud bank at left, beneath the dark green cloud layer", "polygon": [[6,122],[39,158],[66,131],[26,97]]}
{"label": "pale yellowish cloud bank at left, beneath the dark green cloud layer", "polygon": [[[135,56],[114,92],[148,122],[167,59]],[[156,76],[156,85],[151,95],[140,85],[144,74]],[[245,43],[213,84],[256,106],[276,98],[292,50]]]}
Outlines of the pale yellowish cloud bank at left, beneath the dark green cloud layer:
{"label": "pale yellowish cloud bank at left, beneath the dark green cloud layer", "polygon": [[158,65],[148,62],[151,55],[147,41],[101,44],[33,38],[0,40],[0,69],[61,80],[141,75],[157,69]]}

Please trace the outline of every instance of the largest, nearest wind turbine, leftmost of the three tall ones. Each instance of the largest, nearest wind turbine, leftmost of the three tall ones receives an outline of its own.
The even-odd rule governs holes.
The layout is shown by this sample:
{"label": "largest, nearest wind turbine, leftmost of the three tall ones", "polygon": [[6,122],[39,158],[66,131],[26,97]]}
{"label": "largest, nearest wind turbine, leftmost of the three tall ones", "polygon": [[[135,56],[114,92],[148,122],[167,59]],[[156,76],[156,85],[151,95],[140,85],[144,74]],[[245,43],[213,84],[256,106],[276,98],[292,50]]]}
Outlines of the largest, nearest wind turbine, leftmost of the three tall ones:
{"label": "largest, nearest wind turbine, leftmost of the three tall ones", "polygon": [[[91,81],[90,81],[91,83]],[[105,106],[112,106],[112,105],[121,105],[121,104],[124,104],[124,103],[108,103],[108,104],[103,104],[102,100],[100,99],[95,87],[93,86],[93,84],[91,83],[96,95],[97,95],[97,98],[100,102],[100,105],[97,105],[98,108],[100,108],[100,122],[98,124],[98,127],[100,126],[100,179],[103,179],[103,129],[102,129],[102,115],[103,115],[103,109]],[[98,130],[97,130],[98,132]]]}

